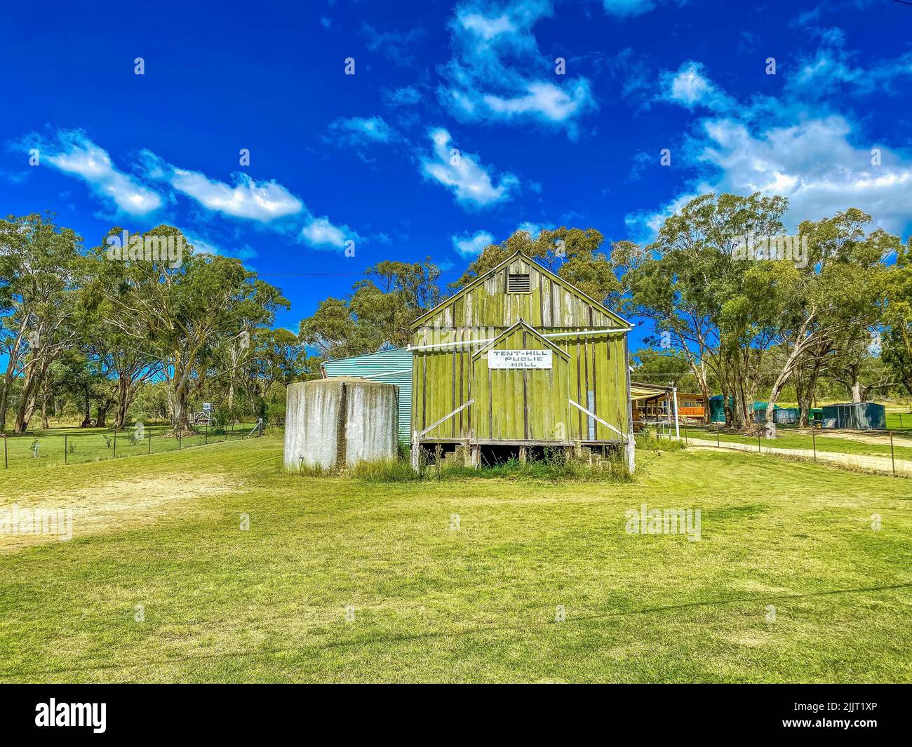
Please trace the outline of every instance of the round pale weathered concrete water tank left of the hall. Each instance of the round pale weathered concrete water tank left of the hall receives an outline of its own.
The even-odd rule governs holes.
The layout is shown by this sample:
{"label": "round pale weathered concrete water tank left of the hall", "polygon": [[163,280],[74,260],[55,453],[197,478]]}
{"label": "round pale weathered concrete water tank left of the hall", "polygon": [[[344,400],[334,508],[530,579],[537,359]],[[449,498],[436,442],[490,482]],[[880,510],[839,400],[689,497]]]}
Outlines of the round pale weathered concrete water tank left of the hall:
{"label": "round pale weathered concrete water tank left of the hall", "polygon": [[399,432],[399,389],[355,377],[288,386],[285,467],[328,470],[392,459]]}

